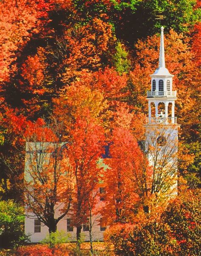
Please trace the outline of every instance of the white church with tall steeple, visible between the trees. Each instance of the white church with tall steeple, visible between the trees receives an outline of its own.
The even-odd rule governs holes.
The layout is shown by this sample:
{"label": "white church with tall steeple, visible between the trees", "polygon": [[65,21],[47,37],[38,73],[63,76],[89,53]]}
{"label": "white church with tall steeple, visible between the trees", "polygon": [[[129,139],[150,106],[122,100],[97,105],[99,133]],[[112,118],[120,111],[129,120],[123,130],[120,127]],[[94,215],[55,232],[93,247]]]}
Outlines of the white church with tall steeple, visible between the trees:
{"label": "white church with tall steeple, visible between the trees", "polygon": [[[176,91],[173,91],[173,75],[169,73],[165,67],[165,51],[164,51],[164,28],[161,28],[160,52],[159,52],[159,67],[156,68],[154,74],[151,74],[151,91],[147,92],[148,100],[148,118],[145,123],[145,150],[149,150],[148,159],[151,165],[155,165],[155,157],[160,150],[161,155],[165,155],[167,159],[163,162],[166,164],[161,168],[160,173],[156,175],[165,176],[161,184],[153,186],[153,191],[157,193],[166,192],[167,197],[174,196],[177,193],[177,141],[178,128],[177,119],[174,115]],[[164,110],[159,109],[164,106]],[[169,113],[171,115],[169,116]],[[27,142],[26,151],[31,147],[32,142]],[[38,142],[39,143],[39,142]],[[151,147],[150,147],[151,146]],[[152,149],[150,149],[152,148]],[[25,156],[25,177],[29,166],[29,154]],[[154,166],[156,168],[156,166]],[[159,168],[158,168],[159,169]],[[158,170],[157,169],[157,170]],[[170,171],[171,170],[171,171]],[[165,181],[165,182],[164,182]],[[167,184],[168,191],[167,191]],[[103,201],[104,186],[99,187],[100,203]],[[56,212],[62,208],[62,203],[58,205]],[[103,241],[103,233],[107,226],[100,225],[101,216],[94,217],[94,225],[92,228],[92,236],[94,241]],[[76,228],[73,227],[69,216],[65,216],[57,224],[57,230],[64,230],[70,234],[71,240],[76,240]],[[39,242],[45,238],[48,233],[48,228],[37,216],[27,213],[25,218],[25,234],[30,235],[31,242]],[[85,235],[85,240],[89,241],[89,227],[83,225],[82,233]]]}

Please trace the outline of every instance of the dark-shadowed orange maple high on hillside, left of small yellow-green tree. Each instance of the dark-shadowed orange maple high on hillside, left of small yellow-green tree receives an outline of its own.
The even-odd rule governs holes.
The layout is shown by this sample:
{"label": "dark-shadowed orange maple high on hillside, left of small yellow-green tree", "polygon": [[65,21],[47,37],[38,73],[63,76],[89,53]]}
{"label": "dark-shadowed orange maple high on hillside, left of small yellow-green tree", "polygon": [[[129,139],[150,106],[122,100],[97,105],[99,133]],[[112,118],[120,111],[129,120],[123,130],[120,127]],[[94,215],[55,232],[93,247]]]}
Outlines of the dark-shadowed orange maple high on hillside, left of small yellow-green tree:
{"label": "dark-shadowed orange maple high on hillside, left of small yellow-green tree", "polygon": [[108,64],[114,41],[111,26],[98,18],[84,26],[65,26],[62,35],[46,48],[54,80],[60,86],[69,85],[82,70],[97,71]]}

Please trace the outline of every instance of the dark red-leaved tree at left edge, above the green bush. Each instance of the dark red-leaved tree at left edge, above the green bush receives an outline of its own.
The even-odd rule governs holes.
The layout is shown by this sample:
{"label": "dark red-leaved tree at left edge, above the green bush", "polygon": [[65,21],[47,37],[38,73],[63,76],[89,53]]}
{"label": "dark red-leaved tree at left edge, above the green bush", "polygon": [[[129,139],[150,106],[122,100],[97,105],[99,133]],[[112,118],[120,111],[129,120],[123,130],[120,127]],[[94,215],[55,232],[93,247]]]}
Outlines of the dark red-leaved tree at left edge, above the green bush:
{"label": "dark red-leaved tree at left edge, above the green bush", "polygon": [[22,199],[25,154],[25,139],[23,134],[27,128],[27,119],[17,110],[2,105],[0,129],[2,142],[0,145],[0,184],[3,188],[3,199]]}

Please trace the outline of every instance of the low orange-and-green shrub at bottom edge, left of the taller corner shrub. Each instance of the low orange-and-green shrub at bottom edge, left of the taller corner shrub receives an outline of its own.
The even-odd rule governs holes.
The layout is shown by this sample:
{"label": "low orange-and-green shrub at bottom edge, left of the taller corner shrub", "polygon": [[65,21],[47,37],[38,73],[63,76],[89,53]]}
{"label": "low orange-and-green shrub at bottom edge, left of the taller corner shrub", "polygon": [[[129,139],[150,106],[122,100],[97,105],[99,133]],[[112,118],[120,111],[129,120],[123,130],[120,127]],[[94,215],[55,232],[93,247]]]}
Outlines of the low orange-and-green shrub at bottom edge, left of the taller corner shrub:
{"label": "low orange-and-green shrub at bottom edge, left of the taller corner shrub", "polygon": [[117,255],[171,255],[176,245],[168,225],[148,219],[115,225],[105,233],[105,239],[114,244]]}

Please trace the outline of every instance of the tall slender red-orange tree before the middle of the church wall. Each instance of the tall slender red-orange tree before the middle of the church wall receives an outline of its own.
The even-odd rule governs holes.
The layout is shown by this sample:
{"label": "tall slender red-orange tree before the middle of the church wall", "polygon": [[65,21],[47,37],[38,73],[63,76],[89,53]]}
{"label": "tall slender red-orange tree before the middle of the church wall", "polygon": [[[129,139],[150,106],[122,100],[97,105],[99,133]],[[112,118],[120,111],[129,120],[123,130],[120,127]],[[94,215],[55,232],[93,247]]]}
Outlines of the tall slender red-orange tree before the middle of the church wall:
{"label": "tall slender red-orange tree before the middle of the church wall", "polygon": [[77,228],[78,247],[82,223],[86,223],[89,216],[87,202],[100,179],[101,168],[97,164],[103,152],[103,135],[103,128],[94,122],[87,109],[81,117],[76,119],[75,126],[70,131],[71,139],[67,157],[72,166],[75,182],[72,210],[74,225]]}

